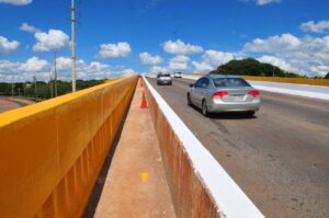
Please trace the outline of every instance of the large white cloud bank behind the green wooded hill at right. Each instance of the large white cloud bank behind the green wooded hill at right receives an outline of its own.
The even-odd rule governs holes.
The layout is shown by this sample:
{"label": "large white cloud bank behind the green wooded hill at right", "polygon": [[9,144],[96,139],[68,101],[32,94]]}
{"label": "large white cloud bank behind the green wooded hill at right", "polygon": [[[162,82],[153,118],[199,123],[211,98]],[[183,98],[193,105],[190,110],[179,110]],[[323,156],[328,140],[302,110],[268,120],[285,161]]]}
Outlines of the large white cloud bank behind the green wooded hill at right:
{"label": "large white cloud bank behind the green wooded hill at right", "polygon": [[242,51],[262,56],[270,54],[283,60],[288,69],[300,74],[324,76],[324,69],[329,66],[329,35],[296,37],[292,34],[282,34],[264,39],[257,38],[247,43]]}

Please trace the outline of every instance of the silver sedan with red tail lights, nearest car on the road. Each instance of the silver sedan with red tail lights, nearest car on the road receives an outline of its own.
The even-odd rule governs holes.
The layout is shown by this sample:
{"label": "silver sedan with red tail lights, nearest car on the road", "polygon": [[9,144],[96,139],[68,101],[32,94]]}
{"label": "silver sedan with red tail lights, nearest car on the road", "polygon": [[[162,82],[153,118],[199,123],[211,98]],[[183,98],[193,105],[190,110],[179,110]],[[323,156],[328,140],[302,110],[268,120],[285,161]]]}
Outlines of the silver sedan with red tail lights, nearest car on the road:
{"label": "silver sedan with red tail lights, nearest car on the road", "polygon": [[207,74],[190,84],[188,103],[203,115],[218,112],[246,112],[253,116],[260,108],[260,93],[237,76]]}

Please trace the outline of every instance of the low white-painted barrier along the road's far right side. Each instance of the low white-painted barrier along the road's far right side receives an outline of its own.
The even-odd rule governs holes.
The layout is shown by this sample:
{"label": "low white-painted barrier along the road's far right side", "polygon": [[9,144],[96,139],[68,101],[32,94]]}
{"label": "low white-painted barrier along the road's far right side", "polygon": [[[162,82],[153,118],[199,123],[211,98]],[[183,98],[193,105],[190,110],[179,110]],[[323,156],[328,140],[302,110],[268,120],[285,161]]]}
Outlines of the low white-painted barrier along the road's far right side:
{"label": "low white-painted barrier along the road's far right side", "polygon": [[[183,76],[183,78],[197,80],[200,77]],[[258,90],[329,101],[328,87],[293,84],[293,83],[282,83],[282,82],[251,81],[251,80],[248,80],[248,82]]]}

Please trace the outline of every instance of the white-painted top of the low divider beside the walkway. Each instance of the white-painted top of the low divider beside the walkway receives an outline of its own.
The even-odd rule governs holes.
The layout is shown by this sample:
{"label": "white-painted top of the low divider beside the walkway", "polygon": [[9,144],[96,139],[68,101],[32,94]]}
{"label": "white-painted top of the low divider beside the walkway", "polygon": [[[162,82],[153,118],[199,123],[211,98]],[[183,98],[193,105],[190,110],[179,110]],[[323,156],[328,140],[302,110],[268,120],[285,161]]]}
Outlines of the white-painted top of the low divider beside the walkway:
{"label": "white-painted top of the low divider beside the walkway", "polygon": [[228,218],[264,217],[160,94],[146,79],[145,81],[159,108],[182,142],[191,159],[194,172],[200,175],[203,184],[206,186],[205,188],[209,191],[217,204],[219,216]]}

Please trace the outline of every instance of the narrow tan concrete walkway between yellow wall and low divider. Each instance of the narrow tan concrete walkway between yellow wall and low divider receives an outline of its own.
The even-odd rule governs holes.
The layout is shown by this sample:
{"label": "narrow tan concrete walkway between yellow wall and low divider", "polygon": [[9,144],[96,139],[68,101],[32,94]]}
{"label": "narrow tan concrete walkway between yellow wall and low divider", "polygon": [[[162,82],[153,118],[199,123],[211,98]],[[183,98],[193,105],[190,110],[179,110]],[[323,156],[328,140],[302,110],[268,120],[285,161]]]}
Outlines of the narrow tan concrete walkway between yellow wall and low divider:
{"label": "narrow tan concrete walkway between yellow wall and low divider", "polygon": [[[94,217],[175,217],[158,140],[138,84]],[[148,124],[148,125],[145,125]]]}

